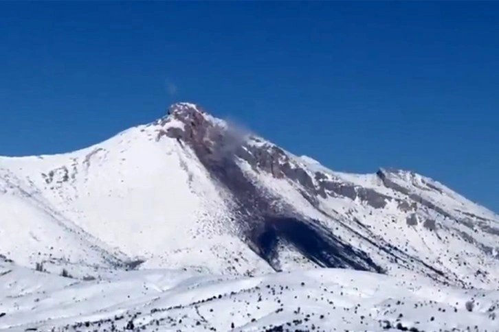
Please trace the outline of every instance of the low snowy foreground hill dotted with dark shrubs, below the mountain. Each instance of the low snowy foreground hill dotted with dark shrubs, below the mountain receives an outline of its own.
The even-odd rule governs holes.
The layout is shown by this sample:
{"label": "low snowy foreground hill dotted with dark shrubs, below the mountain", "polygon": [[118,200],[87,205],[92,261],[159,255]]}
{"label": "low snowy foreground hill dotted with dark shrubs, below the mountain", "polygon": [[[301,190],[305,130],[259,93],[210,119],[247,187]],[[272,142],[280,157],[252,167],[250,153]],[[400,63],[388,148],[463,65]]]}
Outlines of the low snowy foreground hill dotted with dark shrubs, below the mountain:
{"label": "low snowy foreground hill dotted with dark shrubs, below the mountain", "polygon": [[0,263],[5,331],[498,331],[499,292],[315,269],[75,281]]}

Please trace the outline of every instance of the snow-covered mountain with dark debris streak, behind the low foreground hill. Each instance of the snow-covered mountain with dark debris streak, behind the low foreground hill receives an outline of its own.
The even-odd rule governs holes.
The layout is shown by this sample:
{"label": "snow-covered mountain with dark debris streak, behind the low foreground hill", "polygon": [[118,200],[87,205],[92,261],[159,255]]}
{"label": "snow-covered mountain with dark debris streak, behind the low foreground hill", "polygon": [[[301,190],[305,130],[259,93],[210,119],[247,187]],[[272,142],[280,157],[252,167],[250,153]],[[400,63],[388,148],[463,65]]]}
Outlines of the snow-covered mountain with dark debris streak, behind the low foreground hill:
{"label": "snow-covered mountain with dark debris streak, behind the low foreground hill", "polygon": [[331,267],[496,289],[498,247],[499,216],[439,182],[335,172],[195,104],[76,152],[0,157],[0,253],[74,276]]}

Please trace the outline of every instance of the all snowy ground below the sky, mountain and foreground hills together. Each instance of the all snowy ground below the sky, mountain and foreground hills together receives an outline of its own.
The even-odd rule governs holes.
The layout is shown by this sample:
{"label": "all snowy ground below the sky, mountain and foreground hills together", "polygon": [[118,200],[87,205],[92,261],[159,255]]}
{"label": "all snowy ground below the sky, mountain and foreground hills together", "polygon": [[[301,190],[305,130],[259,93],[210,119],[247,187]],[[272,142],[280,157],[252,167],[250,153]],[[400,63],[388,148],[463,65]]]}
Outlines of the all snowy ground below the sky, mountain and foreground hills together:
{"label": "all snowy ground below the sky, mountain and foreground hills together", "polygon": [[347,174],[189,103],[0,156],[0,329],[499,331],[499,216]]}

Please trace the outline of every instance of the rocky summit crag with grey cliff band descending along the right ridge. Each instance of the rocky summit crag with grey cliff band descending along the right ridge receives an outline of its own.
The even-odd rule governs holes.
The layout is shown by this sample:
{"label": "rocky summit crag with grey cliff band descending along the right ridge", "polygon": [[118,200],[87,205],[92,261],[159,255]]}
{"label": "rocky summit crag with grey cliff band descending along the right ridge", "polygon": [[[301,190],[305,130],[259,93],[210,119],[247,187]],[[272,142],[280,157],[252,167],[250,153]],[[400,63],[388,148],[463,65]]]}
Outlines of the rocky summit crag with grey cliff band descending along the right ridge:
{"label": "rocky summit crag with grey cliff band descending along the right ridge", "polygon": [[[237,132],[228,126],[207,119],[208,115],[201,108],[176,104],[169,110],[169,115],[184,123],[184,128],[168,128],[166,135],[189,143],[202,159],[220,160],[239,157],[247,161],[255,171],[265,171],[274,178],[287,178],[306,191],[307,198],[338,195],[366,202],[376,209],[386,206],[387,196],[372,189],[358,187],[349,183],[329,180],[329,176],[316,171],[311,174],[302,165],[289,158],[289,155],[276,145],[263,143],[257,137]],[[166,118],[164,121],[168,121]],[[313,179],[313,178],[314,179]]]}

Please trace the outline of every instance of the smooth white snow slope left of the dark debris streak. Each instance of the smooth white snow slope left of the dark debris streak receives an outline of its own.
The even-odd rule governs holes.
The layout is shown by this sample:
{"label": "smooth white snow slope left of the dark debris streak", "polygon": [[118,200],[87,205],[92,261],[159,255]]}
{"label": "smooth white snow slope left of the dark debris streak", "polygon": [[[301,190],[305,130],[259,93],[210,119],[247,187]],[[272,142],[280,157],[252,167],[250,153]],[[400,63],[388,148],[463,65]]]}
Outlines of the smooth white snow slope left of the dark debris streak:
{"label": "smooth white snow slope left of the dark debris streak", "polygon": [[[188,147],[158,139],[164,129],[138,126],[68,154],[0,157],[0,253],[31,266],[82,257],[102,265],[65,236],[71,227],[86,230],[107,252],[146,260],[148,268],[271,271],[229,225],[220,232],[230,217],[223,190]],[[225,252],[243,259],[234,264]]]}

